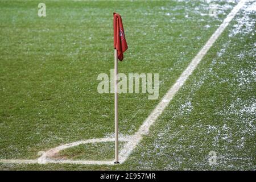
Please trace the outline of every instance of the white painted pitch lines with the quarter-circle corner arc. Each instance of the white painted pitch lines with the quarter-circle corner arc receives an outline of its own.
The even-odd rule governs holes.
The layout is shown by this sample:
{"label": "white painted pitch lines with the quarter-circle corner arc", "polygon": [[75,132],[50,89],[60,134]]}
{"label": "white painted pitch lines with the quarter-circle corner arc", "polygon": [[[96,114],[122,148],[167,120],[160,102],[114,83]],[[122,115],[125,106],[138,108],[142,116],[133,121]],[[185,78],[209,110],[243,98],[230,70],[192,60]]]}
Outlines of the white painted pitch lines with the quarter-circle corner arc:
{"label": "white painted pitch lines with the quarter-circle corner arc", "polygon": [[[119,138],[120,141],[126,142],[125,146],[122,147],[122,150],[119,153],[119,162],[123,163],[137,146],[137,144],[141,141],[143,135],[148,134],[150,126],[156,121],[156,119],[161,115],[166,108],[166,106],[170,103],[174,95],[177,91],[183,86],[189,75],[195,70],[197,65],[203,59],[205,54],[209,51],[210,47],[216,42],[218,37],[221,33],[225,30],[228,26],[230,21],[234,18],[237,12],[245,5],[245,2],[249,0],[241,0],[238,4],[233,8],[233,10],[228,14],[226,19],[221,23],[220,27],[214,32],[214,34],[210,37],[208,42],[204,45],[204,47],[197,53],[188,67],[181,73],[180,77],[177,79],[175,84],[168,90],[166,95],[162,98],[159,104],[155,107],[152,113],[147,117],[147,119],[143,122],[142,126],[139,127],[139,130],[130,137],[121,137]],[[81,140],[78,142],[72,142],[68,144],[64,144],[55,148],[52,148],[46,151],[46,155],[40,156],[38,159],[33,160],[23,160],[23,159],[0,159],[0,163],[40,163],[40,161],[44,161],[45,163],[67,163],[67,164],[106,164],[106,165],[113,165],[113,161],[106,161],[106,160],[57,160],[52,159],[51,157],[56,155],[59,151],[64,150],[65,148],[78,146],[79,144],[85,143],[97,143],[97,142],[113,142],[114,138],[96,138],[96,139],[88,139],[88,140]]]}

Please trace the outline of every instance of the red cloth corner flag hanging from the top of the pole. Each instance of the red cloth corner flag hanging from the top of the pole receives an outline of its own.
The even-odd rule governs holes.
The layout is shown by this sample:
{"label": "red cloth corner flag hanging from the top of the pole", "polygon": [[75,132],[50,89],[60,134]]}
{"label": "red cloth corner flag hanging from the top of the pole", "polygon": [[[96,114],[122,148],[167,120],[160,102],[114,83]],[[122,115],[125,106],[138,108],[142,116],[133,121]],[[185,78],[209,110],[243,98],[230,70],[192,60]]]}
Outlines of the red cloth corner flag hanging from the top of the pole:
{"label": "red cloth corner flag hanging from the top of the pole", "polygon": [[125,40],[125,31],[123,30],[122,18],[119,14],[114,13],[114,48],[117,49],[117,57],[123,60],[123,52],[127,50]]}

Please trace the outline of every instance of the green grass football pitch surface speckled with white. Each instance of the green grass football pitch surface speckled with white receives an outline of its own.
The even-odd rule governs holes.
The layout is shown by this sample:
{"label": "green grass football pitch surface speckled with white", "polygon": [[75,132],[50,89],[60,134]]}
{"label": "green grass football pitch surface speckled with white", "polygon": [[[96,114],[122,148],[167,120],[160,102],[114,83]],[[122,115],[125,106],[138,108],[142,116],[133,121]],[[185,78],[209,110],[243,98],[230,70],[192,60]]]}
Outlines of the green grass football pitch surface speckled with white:
{"label": "green grass football pitch surface speckled with white", "polygon": [[[1,170],[255,170],[255,0],[225,28],[237,1],[44,1],[39,17],[40,2],[0,1]],[[59,163],[39,164],[52,148],[114,138],[114,94],[97,91],[97,76],[114,68],[113,12],[129,47],[118,72],[159,74],[157,100],[119,94],[120,138],[136,137],[159,114],[223,32],[121,164],[61,162],[112,161],[114,140],[80,143],[53,154]]]}

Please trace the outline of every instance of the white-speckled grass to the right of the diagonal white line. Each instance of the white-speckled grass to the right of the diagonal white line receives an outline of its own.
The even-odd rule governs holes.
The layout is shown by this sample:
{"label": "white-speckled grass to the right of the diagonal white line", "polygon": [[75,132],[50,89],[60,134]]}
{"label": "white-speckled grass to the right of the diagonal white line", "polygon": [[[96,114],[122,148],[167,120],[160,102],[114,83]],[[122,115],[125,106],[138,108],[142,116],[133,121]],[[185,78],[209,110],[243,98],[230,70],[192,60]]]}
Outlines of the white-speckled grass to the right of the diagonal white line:
{"label": "white-speckled grass to the right of the diagonal white line", "polygon": [[[255,56],[255,48],[251,43],[236,42],[237,38],[245,39],[254,34],[255,19],[251,16],[255,12],[251,4],[255,2],[247,3],[234,19],[238,26],[229,27],[229,35],[234,39],[229,36],[209,65],[193,73],[197,77],[193,77],[188,88],[181,91],[184,94],[175,98],[177,106],[173,102],[160,118],[163,125],[159,124],[154,137],[150,138],[149,142],[153,144],[140,154],[144,160],[138,163],[144,169],[154,169],[155,166],[158,169],[159,166],[161,169],[254,168],[256,99],[244,93],[253,92],[255,87],[256,65],[251,59]],[[245,45],[240,52],[236,52],[238,43]],[[218,90],[212,93],[213,96],[198,98],[200,92],[210,92],[211,89]],[[225,94],[227,97],[220,102],[218,97]],[[216,104],[208,110],[214,101]],[[210,150],[217,152],[216,167],[209,166]]]}

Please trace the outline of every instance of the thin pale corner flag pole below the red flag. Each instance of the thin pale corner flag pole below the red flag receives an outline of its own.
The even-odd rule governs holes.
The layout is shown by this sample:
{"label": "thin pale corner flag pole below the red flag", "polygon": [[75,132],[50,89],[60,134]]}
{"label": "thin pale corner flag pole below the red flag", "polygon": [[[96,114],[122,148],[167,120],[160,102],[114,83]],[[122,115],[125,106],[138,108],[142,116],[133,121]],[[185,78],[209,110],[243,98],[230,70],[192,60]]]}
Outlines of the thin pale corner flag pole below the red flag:
{"label": "thin pale corner flag pole below the red flag", "polygon": [[114,66],[114,84],[115,84],[115,164],[118,162],[118,59],[117,59],[117,49],[114,52],[115,55],[115,66]]}

